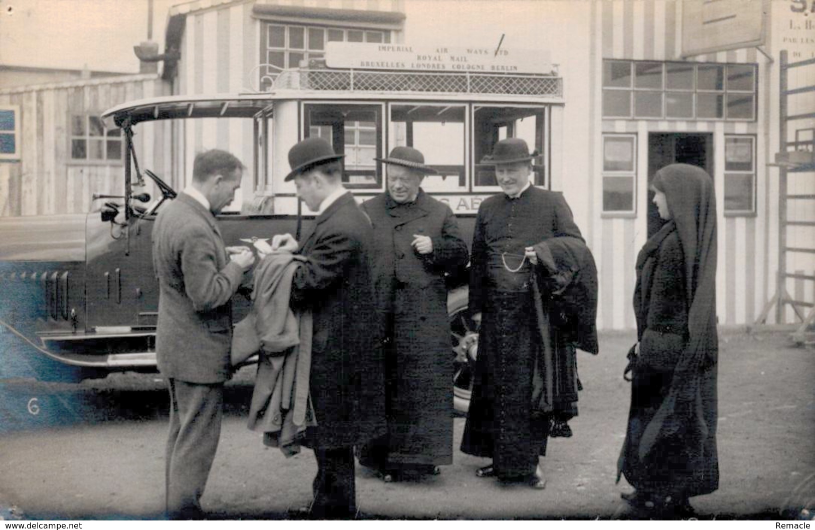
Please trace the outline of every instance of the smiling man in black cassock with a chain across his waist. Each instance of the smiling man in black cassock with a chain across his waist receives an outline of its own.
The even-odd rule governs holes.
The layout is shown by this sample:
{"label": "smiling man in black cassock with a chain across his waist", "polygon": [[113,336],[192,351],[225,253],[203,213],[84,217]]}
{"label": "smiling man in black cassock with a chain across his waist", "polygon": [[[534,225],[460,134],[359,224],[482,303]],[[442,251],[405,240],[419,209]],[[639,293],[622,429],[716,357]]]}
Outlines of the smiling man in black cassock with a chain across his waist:
{"label": "smiling man in black cassock with a chain across his waist", "polygon": [[571,345],[562,343],[545,317],[541,321],[538,304],[547,307],[549,293],[537,292],[533,274],[544,265],[554,268],[547,240],[568,236],[582,245],[583,239],[562,194],[531,185],[535,157],[523,139],[509,138],[484,161],[496,166],[502,193],[482,202],[474,228],[469,311],[481,329],[461,450],[491,458],[476,471],[479,477],[542,489],[539,456],[546,452],[555,411],[551,400],[533,404],[533,398],[553,381],[544,353],[552,359],[553,352]]}

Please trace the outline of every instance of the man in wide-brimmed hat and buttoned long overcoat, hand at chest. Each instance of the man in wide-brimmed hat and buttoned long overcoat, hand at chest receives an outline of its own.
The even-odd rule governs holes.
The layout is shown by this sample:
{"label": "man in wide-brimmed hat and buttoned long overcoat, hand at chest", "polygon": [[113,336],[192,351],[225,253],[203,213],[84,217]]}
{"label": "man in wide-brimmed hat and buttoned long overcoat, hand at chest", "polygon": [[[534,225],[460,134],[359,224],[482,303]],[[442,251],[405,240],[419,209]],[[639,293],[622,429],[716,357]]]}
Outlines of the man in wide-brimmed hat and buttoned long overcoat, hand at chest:
{"label": "man in wide-brimmed hat and buttoned long overcoat, hand at chest", "polygon": [[381,479],[452,464],[452,363],[445,276],[467,264],[456,217],[421,188],[436,171],[410,147],[386,158],[387,188],[363,203],[374,231],[377,312],[385,329],[387,434],[359,462]]}

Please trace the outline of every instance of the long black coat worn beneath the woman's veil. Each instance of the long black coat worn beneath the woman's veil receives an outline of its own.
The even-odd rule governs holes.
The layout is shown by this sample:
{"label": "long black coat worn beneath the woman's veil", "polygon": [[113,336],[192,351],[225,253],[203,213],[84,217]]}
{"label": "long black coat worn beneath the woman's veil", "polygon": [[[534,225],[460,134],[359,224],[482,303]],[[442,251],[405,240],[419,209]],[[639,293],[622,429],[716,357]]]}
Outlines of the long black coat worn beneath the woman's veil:
{"label": "long black coat worn beneath the woman's veil", "polygon": [[704,450],[698,452],[687,444],[681,432],[659,437],[654,450],[640,454],[645,428],[666,400],[688,342],[685,254],[679,232],[670,228],[654,235],[637,258],[634,312],[640,355],[632,372],[631,408],[619,470],[637,489],[692,497],[718,487],[716,365],[698,372],[703,398],[698,413],[711,426]]}

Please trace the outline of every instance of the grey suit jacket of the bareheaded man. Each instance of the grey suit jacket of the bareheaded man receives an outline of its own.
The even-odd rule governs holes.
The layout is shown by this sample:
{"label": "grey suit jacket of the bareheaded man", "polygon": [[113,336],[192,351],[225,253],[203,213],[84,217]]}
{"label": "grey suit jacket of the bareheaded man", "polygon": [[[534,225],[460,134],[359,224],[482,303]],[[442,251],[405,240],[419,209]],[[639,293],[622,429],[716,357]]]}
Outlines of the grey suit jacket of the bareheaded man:
{"label": "grey suit jacket of the bareheaded man", "polygon": [[214,215],[180,193],[158,214],[152,245],[159,282],[159,370],[186,382],[226,381],[231,375],[231,297],[243,271],[227,256]]}

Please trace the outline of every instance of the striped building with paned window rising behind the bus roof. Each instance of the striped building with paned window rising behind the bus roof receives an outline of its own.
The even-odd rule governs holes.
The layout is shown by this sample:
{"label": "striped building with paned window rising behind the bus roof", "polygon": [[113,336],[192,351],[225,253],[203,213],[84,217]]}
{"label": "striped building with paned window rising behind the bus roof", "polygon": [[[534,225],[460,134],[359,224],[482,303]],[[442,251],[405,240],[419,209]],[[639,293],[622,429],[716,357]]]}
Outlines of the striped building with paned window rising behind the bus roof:
{"label": "striped building with paned window rising behind the bus roof", "polygon": [[[163,77],[178,95],[236,94],[267,90],[284,68],[324,56],[327,42],[398,42],[403,0],[198,0],[170,9],[168,51],[177,63],[165,64]],[[227,149],[253,160],[253,129],[247,120],[204,119],[178,124],[183,142],[173,182],[183,188],[197,152]],[[186,127],[186,130],[184,130]],[[266,183],[245,174],[233,208],[252,201]],[[185,176],[186,175],[186,176]],[[249,196],[249,197],[248,197]]]}

